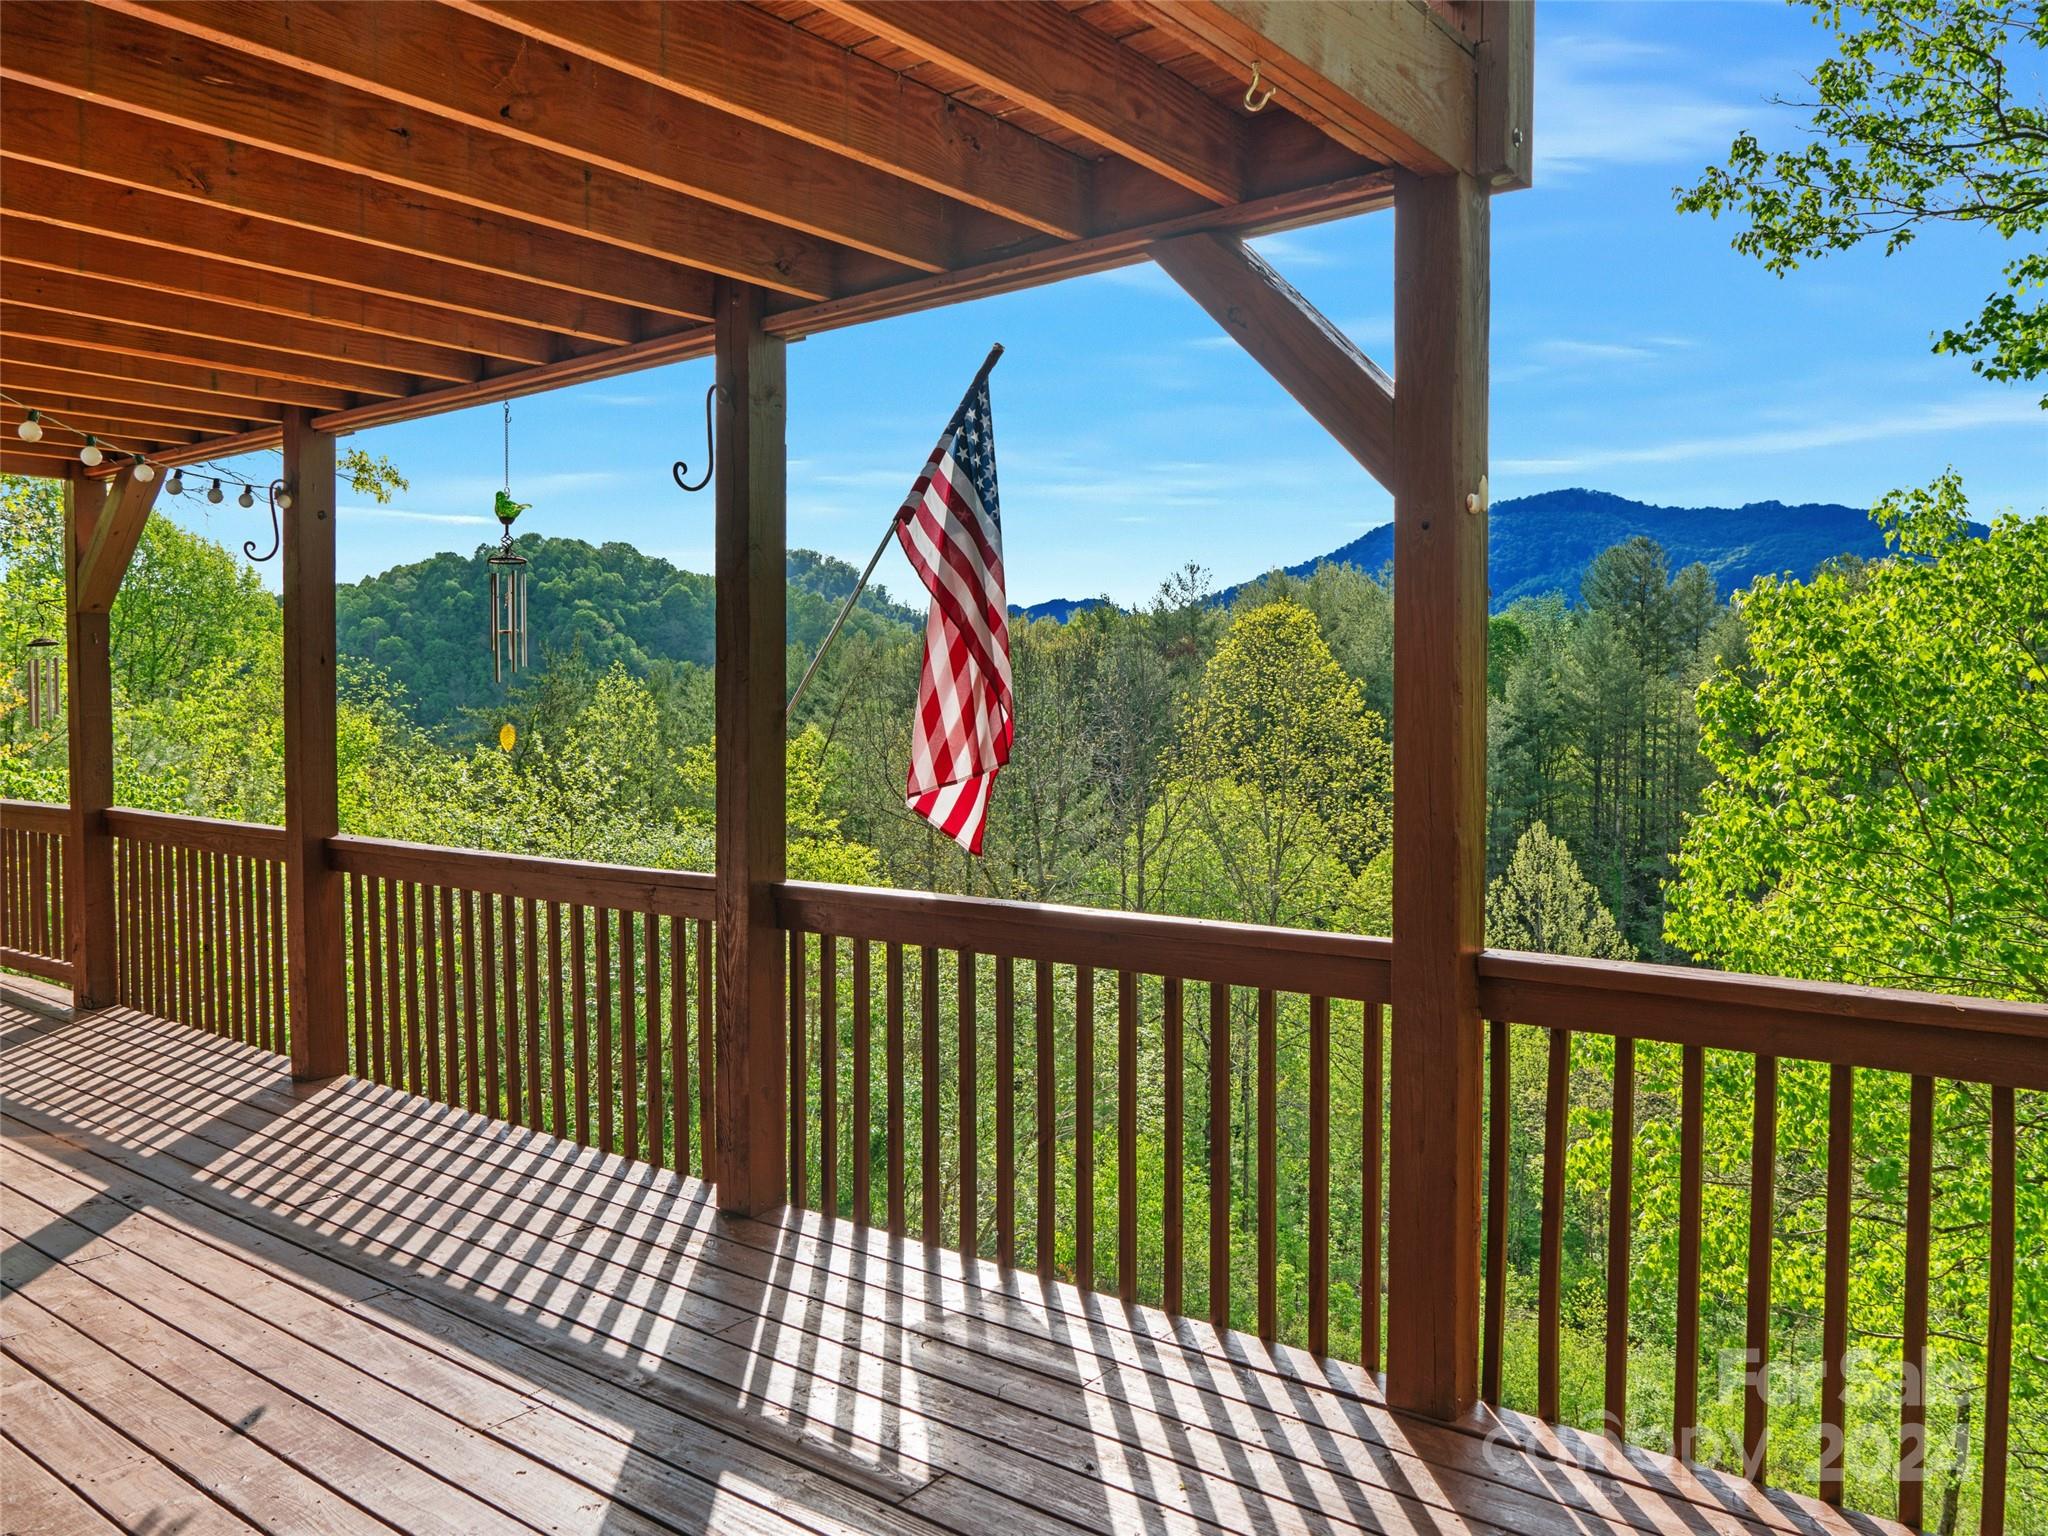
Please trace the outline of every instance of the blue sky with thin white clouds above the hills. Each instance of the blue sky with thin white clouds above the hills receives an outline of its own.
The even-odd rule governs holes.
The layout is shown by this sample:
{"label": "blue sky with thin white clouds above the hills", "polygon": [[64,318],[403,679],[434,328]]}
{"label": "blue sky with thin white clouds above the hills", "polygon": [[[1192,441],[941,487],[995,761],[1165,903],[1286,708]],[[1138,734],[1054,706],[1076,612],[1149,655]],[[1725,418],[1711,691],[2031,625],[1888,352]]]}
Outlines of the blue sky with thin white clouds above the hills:
{"label": "blue sky with thin white clouds above the hills", "polygon": [[[1790,131],[1767,98],[1796,96],[1823,51],[1804,8],[1542,6],[1536,186],[1493,203],[1495,500],[1591,485],[1679,506],[1868,506],[1956,465],[1978,514],[2048,504],[2038,387],[1929,350],[2017,250],[1933,231],[1888,260],[1851,252],[1780,281],[1729,250],[1726,225],[1671,209],[1737,131]],[[1391,213],[1262,250],[1399,371]],[[1008,346],[993,395],[1014,602],[1143,600],[1190,559],[1229,584],[1393,514],[1192,299],[1135,266],[793,346],[793,545],[866,559],[991,340]],[[512,489],[532,504],[520,530],[709,569],[711,496],[668,479],[672,459],[702,455],[709,381],[709,362],[686,362],[514,401]],[[500,432],[485,406],[352,438],[412,489],[389,508],[344,496],[342,580],[485,541]],[[186,498],[174,516],[240,545],[264,514]],[[879,580],[913,588],[895,551]]]}

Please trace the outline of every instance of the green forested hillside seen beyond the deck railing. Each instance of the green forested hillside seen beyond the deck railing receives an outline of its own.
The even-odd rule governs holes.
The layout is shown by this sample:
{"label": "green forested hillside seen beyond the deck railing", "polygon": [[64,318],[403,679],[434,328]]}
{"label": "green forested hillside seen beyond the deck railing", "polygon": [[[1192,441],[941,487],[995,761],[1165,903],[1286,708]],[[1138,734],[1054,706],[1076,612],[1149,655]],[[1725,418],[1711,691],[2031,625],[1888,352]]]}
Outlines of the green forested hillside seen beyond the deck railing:
{"label": "green forested hillside seen beyond the deck railing", "polygon": [[[33,633],[61,633],[61,539],[45,492],[8,485],[6,510],[0,647],[18,657]],[[2048,999],[2048,522],[2005,520],[1966,539],[1950,483],[1882,512],[1880,543],[1888,530],[1911,559],[1845,559],[1810,582],[1759,582],[1731,604],[1704,565],[1673,567],[1657,543],[1628,539],[1595,551],[1577,602],[1520,598],[1491,618],[1489,942]],[[344,594],[344,829],[709,868],[707,578],[621,545],[528,539],[522,551],[535,561],[535,666],[502,690],[479,643],[479,557],[444,555]],[[791,676],[850,580],[836,561],[791,557]],[[1016,756],[997,780],[981,860],[903,811],[918,618],[877,600],[803,700],[788,752],[793,877],[1389,930],[1393,596],[1374,573],[1321,565],[1219,600],[1206,573],[1186,569],[1137,610],[1018,618]],[[113,635],[117,799],[279,821],[276,600],[225,549],[156,518]],[[498,748],[506,721],[518,727],[510,752]],[[0,684],[0,797],[66,797],[61,729],[27,727],[18,672]],[[1935,909],[1942,922],[1927,918]],[[950,1018],[952,1001],[944,1008]],[[1069,1030],[1073,997],[1057,1012]],[[1339,1020],[1356,1026],[1356,1012]],[[1251,1020],[1233,1026],[1233,1051],[1251,1038]],[[1307,1266],[1307,1038],[1303,999],[1284,997],[1288,1286]],[[1071,1038],[1059,1049],[1071,1051]],[[1356,1051],[1356,1034],[1333,1047],[1346,1063],[1331,1090],[1333,1145],[1358,1145]],[[1597,1423],[1602,1401],[1608,1051],[1612,1042],[1581,1040],[1569,1079],[1563,1401],[1577,1423]],[[1532,1407],[1524,1323],[1534,1309],[1542,1040],[1516,1030],[1513,1053],[1505,1384],[1513,1407]],[[1143,1065],[1151,1073],[1157,1063]],[[1673,1352],[1675,1051],[1645,1047],[1636,1071],[1630,1348],[1642,1389],[1628,1430],[1657,1444]],[[1231,1073],[1249,1081],[1249,1063]],[[1741,1339],[1747,1253],[1722,1235],[1741,1229],[1749,1081],[1743,1057],[1708,1053],[1714,1239],[1700,1286],[1712,1348]],[[1827,1071],[1788,1061],[1780,1094],[1774,1348],[1796,1372],[1819,1348]],[[1858,1075],[1851,1315],[1878,1354],[1894,1348],[1886,1329],[1896,1329],[1903,1094],[1905,1079]],[[979,1102],[993,1100],[989,1083]],[[1933,1335],[1948,1376],[1929,1407],[1937,1438],[1958,1413],[1954,1384],[1976,1380],[1982,1360],[1985,1116],[1982,1092],[1942,1085]],[[2044,1118],[2040,1096],[2021,1096],[2019,1231],[2036,1235],[2048,1231]],[[1251,1153],[1249,1124],[1249,1114],[1233,1124],[1239,1161]],[[1094,1133],[1108,1167],[1114,1116]],[[1151,1120],[1139,1157],[1141,1212],[1155,1231],[1163,1153]],[[1184,1190],[1190,1210],[1202,1210],[1198,1163]],[[1337,1354],[1358,1348],[1360,1298],[1343,1280],[1358,1264],[1356,1190],[1356,1176],[1333,1186]],[[1112,1186],[1098,1200],[1112,1202],[1098,1206],[1108,1231]],[[1255,1212],[1247,1200],[1233,1212],[1233,1262],[1249,1264]],[[1071,1274],[1071,1245],[1059,1264]],[[1202,1284],[1190,1253],[1192,1311]],[[2048,1380],[2025,1364],[2048,1350],[2038,1241],[2019,1255],[2017,1286],[2013,1479],[2038,1493]],[[1239,1276],[1233,1305],[1249,1307],[1253,1290],[1249,1272]],[[1298,1313],[1284,1311],[1286,1337],[1298,1341]],[[1858,1421],[1896,1434],[1896,1399],[1882,1380],[1855,1393]],[[1804,1485],[1817,1407],[1790,1391],[1782,1401],[1774,1475]],[[1720,1436],[1712,1444],[1737,1444],[1739,1417],[1739,1393],[1706,1405],[1702,1423]],[[1876,1468],[1876,1481],[1851,1483],[1851,1501],[1882,1507],[1886,1456],[1853,1466]],[[2025,1528],[2038,1530],[2015,1526]]]}

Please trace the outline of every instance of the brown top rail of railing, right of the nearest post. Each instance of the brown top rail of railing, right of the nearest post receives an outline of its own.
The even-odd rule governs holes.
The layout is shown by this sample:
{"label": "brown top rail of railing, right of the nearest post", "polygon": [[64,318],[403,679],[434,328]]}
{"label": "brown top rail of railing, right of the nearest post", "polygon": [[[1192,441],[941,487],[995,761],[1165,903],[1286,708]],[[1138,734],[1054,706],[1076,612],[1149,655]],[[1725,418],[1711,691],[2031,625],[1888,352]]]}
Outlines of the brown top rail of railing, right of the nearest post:
{"label": "brown top rail of railing, right of the nearest post", "polygon": [[2048,1087],[2040,1004],[1487,950],[1479,1006],[1509,1024]]}

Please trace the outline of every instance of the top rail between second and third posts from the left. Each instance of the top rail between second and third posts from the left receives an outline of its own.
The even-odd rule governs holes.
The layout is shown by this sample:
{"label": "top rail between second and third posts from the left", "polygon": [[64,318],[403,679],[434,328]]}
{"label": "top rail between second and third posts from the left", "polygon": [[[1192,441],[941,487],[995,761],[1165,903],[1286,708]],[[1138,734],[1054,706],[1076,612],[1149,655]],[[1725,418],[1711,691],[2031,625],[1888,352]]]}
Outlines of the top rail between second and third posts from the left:
{"label": "top rail between second and third posts from the left", "polygon": [[492,854],[385,838],[328,838],[328,860],[344,874],[453,885],[567,905],[653,911],[664,918],[711,918],[717,889],[711,874],[692,870],[584,864],[573,858]]}

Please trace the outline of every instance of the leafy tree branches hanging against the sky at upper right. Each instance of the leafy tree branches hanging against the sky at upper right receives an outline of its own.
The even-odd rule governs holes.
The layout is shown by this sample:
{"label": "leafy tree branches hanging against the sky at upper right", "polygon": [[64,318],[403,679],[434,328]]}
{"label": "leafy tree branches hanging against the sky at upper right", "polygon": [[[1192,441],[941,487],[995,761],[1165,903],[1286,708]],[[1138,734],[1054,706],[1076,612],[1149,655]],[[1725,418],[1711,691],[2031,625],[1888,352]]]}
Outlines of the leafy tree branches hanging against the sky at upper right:
{"label": "leafy tree branches hanging against the sky at upper right", "polygon": [[[1774,272],[1882,242],[1892,254],[1929,223],[1970,223],[2005,240],[2048,231],[2048,113],[2017,100],[2007,55],[2048,47],[2036,0],[1802,0],[1835,39],[1796,104],[1812,143],[1767,152],[1753,133],[1726,166],[1675,193],[1686,213],[1737,213],[1735,250]],[[1974,319],[1942,332],[1987,379],[2048,367],[2048,252],[2005,266]],[[2044,401],[2048,403],[2048,401]]]}

